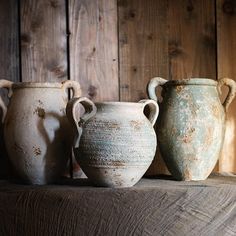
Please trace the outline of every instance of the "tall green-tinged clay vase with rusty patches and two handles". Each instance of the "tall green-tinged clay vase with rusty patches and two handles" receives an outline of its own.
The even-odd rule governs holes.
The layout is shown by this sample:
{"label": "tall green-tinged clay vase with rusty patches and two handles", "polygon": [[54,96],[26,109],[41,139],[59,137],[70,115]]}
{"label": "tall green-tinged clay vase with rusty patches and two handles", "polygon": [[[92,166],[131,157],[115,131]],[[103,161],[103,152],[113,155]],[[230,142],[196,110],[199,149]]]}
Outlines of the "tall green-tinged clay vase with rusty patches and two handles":
{"label": "tall green-tinged clay vase with rusty patches and two handles", "polygon": [[[236,83],[192,78],[172,80],[156,77],[148,85],[151,99],[162,86],[157,122],[158,144],[163,159],[178,180],[204,180],[219,158],[225,132],[225,112],[235,96]],[[219,91],[229,87],[223,105]]]}

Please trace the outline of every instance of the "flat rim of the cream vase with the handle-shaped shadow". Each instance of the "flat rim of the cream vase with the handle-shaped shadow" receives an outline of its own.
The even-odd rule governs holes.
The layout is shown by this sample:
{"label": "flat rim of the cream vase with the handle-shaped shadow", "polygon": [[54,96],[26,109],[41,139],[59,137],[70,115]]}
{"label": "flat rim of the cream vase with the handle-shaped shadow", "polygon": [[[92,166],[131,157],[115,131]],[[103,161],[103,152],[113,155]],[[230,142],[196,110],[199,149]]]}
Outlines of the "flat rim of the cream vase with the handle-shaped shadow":
{"label": "flat rim of the cream vase with the handle-shaped shadow", "polygon": [[13,83],[12,88],[62,88],[58,82],[19,82]]}

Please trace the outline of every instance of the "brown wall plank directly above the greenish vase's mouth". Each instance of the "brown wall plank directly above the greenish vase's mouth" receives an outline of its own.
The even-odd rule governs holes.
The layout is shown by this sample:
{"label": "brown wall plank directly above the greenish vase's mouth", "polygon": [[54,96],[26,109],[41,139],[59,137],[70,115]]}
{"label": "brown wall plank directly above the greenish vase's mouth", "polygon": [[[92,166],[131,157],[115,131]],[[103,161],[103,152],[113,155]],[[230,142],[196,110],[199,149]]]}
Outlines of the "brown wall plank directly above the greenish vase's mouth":
{"label": "brown wall plank directly above the greenish vase's mouth", "polygon": [[169,79],[216,79],[215,1],[169,0]]}

